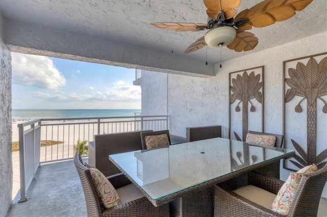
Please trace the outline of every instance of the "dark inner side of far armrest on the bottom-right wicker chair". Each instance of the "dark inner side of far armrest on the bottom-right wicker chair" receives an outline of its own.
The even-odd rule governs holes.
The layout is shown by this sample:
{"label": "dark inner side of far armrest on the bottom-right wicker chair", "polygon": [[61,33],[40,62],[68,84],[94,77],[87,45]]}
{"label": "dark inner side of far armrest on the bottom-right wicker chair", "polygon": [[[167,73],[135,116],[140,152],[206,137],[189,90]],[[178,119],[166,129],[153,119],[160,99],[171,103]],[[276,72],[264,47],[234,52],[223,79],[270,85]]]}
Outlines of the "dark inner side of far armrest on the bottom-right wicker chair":
{"label": "dark inner side of far armrest on the bottom-right wicker chair", "polygon": [[283,186],[284,181],[276,178],[268,178],[255,172],[249,172],[248,184],[260,187],[272,194],[277,195],[279,189],[281,189]]}

